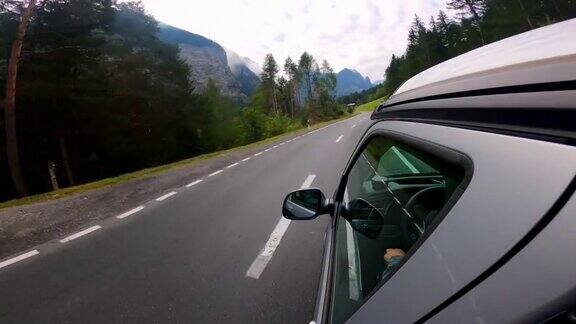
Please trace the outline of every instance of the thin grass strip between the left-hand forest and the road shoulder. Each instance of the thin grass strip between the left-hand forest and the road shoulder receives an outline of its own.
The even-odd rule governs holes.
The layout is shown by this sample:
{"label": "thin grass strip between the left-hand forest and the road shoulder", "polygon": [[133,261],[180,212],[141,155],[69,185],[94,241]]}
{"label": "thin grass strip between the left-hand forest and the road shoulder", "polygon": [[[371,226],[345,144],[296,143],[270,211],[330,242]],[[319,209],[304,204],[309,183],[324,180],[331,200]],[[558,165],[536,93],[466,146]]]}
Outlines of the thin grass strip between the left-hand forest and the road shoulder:
{"label": "thin grass strip between the left-hand forest and the road shoulder", "polygon": [[[326,122],[321,122],[321,123],[315,124],[312,127],[310,127],[310,129],[312,130],[312,129],[321,128],[321,127],[324,127],[326,125],[341,121],[343,119],[350,118],[356,114],[358,114],[358,112],[354,112],[352,114],[345,114],[344,116],[342,116],[338,119],[333,119],[333,120],[329,120]],[[46,192],[46,193],[42,193],[42,194],[38,194],[38,195],[32,195],[32,196],[28,196],[28,197],[24,197],[24,198],[8,200],[8,201],[0,203],[0,209],[20,206],[20,205],[26,205],[26,204],[31,204],[31,203],[35,203],[35,202],[42,202],[42,201],[47,201],[47,200],[52,200],[52,199],[58,199],[58,198],[62,198],[65,196],[72,195],[72,194],[78,194],[78,193],[82,193],[82,192],[93,190],[93,189],[98,189],[98,188],[111,186],[111,185],[115,185],[115,184],[120,184],[120,183],[129,181],[129,180],[133,180],[133,179],[139,179],[139,178],[144,178],[144,177],[148,177],[148,176],[153,176],[153,175],[156,175],[158,173],[162,173],[162,172],[167,171],[167,170],[187,166],[189,164],[203,161],[203,160],[207,160],[207,159],[210,159],[210,158],[213,158],[216,156],[229,154],[229,153],[237,152],[237,151],[244,150],[244,149],[250,149],[250,148],[253,148],[256,146],[260,146],[260,145],[266,145],[266,144],[269,144],[269,143],[272,143],[272,142],[278,140],[281,137],[290,136],[290,135],[293,135],[295,133],[301,132],[305,128],[306,127],[301,127],[301,128],[296,129],[296,130],[289,131],[289,132],[286,132],[286,133],[283,133],[283,134],[280,134],[280,135],[277,135],[274,137],[269,137],[269,138],[263,139],[259,142],[250,143],[250,144],[247,144],[244,146],[237,146],[237,147],[230,148],[227,150],[202,154],[202,155],[198,155],[198,156],[195,156],[195,157],[192,157],[189,159],[185,159],[185,160],[181,160],[181,161],[177,161],[177,162],[173,162],[173,163],[169,163],[169,164],[159,165],[159,166],[152,167],[152,168],[142,169],[142,170],[135,171],[135,172],[125,173],[125,174],[121,174],[121,175],[116,176],[116,177],[110,177],[110,178],[106,178],[106,179],[102,179],[102,180],[98,180],[98,181],[94,181],[94,182],[89,182],[89,183],[78,185],[78,186],[62,188],[59,190],[50,191],[50,192]]]}

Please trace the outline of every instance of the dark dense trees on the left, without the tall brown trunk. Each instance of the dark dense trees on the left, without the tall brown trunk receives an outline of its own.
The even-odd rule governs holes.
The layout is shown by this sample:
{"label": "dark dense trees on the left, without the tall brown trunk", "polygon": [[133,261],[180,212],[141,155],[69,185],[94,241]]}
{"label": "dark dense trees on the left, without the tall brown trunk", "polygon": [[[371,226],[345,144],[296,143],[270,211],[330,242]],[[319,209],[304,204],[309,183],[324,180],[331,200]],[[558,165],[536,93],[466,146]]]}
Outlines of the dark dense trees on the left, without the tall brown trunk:
{"label": "dark dense trees on the left, without the tall brown trunk", "polygon": [[[0,88],[17,17],[0,8]],[[66,186],[65,162],[86,183],[242,142],[237,107],[214,86],[194,93],[178,48],[157,32],[140,2],[48,0],[37,10],[16,91],[19,153],[33,193],[50,189],[48,161]],[[0,197],[8,198],[4,152]]]}

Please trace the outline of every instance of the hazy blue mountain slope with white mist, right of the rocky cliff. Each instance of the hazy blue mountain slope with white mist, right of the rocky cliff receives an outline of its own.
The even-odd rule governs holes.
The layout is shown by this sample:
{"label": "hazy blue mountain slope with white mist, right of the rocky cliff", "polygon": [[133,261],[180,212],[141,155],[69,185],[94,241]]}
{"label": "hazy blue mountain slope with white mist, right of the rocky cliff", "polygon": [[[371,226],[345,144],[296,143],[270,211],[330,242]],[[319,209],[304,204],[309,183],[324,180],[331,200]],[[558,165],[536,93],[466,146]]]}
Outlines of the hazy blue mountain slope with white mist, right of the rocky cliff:
{"label": "hazy blue mountain slope with white mist, right of the rocky cliff", "polygon": [[240,84],[240,91],[246,95],[252,94],[258,86],[258,83],[260,83],[258,75],[262,72],[262,69],[251,59],[241,57],[230,49],[225,50],[228,59],[228,67]]}

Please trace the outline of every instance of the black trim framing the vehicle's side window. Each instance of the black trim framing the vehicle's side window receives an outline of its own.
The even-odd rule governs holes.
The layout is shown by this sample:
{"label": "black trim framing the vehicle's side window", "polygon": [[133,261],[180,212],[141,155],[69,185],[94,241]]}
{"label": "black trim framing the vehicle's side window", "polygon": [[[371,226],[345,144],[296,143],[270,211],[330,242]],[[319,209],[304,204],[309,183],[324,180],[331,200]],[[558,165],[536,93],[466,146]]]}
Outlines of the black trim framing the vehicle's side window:
{"label": "black trim framing the vehicle's side window", "polygon": [[335,258],[334,248],[336,246],[336,235],[334,235],[334,230],[336,229],[336,222],[338,220],[337,216],[340,213],[339,207],[341,206],[342,199],[344,197],[344,191],[346,189],[346,183],[348,182],[348,174],[352,170],[352,167],[354,166],[354,164],[356,163],[356,161],[358,160],[358,158],[360,157],[360,155],[362,154],[362,152],[364,151],[366,146],[375,137],[385,137],[385,138],[391,139],[393,141],[407,145],[407,146],[412,147],[412,148],[419,150],[421,152],[425,152],[429,155],[432,155],[432,156],[434,156],[440,160],[445,161],[448,164],[462,168],[462,170],[464,171],[464,178],[462,179],[462,182],[458,185],[458,187],[456,187],[456,189],[454,190],[454,193],[452,194],[450,199],[446,202],[444,207],[442,207],[442,209],[440,210],[438,215],[434,218],[434,220],[432,221],[432,223],[428,227],[428,230],[422,235],[422,237],[420,237],[420,239],[416,243],[414,243],[414,245],[406,253],[406,256],[404,258],[402,258],[402,261],[390,273],[388,278],[379,282],[378,285],[376,287],[374,287],[374,289],[372,289],[372,291],[368,294],[368,296],[366,296],[364,298],[362,305],[358,309],[356,309],[356,311],[354,313],[358,312],[363,307],[363,305],[365,305],[366,302],[368,302],[368,300],[370,300],[370,298],[372,298],[372,296],[377,291],[379,291],[382,288],[382,286],[384,286],[386,284],[386,282],[388,282],[388,280],[393,278],[394,274],[399,269],[401,269],[404,266],[404,264],[412,257],[412,255],[414,255],[414,253],[420,248],[420,246],[424,242],[426,242],[426,240],[431,235],[431,233],[433,233],[436,230],[436,227],[438,227],[438,225],[444,220],[446,215],[448,215],[448,213],[452,210],[452,207],[454,207],[456,202],[460,199],[462,194],[466,191],[466,188],[470,184],[472,177],[473,177],[473,174],[474,174],[474,163],[473,163],[472,159],[468,155],[466,155],[460,151],[456,151],[452,148],[448,148],[448,147],[443,146],[441,144],[434,143],[434,142],[431,142],[431,141],[428,141],[428,140],[425,140],[422,138],[418,138],[418,137],[415,137],[412,135],[408,135],[408,134],[404,134],[404,133],[400,133],[400,132],[396,132],[396,131],[385,130],[385,129],[375,129],[375,130],[370,131],[368,133],[368,135],[366,135],[364,137],[363,141],[356,146],[356,150],[354,151],[353,156],[350,158],[350,160],[348,161],[348,164],[346,165],[346,168],[344,169],[344,172],[343,172],[341,180],[340,180],[340,184],[338,185],[338,189],[334,195],[334,201],[335,201],[335,207],[336,208],[335,208],[335,213],[333,215],[332,225],[331,225],[333,235],[332,235],[332,242],[331,242],[332,249],[330,251],[330,254],[331,254],[330,255],[330,269],[328,272],[328,283],[329,284],[327,285],[324,312],[322,314],[322,320],[324,323],[328,322],[328,318],[332,312],[332,306],[333,306],[332,305],[332,286],[333,286],[332,281],[333,281],[334,271],[335,271],[335,268],[334,268],[334,258]]}

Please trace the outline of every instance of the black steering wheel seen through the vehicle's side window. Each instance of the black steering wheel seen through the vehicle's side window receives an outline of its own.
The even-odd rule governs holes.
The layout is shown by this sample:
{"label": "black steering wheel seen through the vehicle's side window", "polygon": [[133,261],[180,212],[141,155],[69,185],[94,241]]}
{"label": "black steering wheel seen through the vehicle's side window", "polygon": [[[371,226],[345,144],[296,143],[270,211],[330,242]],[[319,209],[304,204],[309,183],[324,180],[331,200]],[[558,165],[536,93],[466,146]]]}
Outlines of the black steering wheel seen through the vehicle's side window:
{"label": "black steering wheel seen through the vehicle's side window", "polygon": [[414,194],[404,209],[409,215],[402,217],[402,233],[410,245],[420,238],[436,213],[442,208],[446,199],[444,186],[433,186],[422,189]]}

